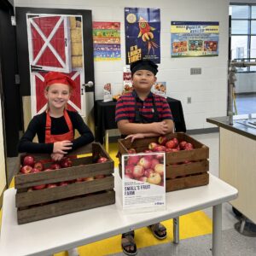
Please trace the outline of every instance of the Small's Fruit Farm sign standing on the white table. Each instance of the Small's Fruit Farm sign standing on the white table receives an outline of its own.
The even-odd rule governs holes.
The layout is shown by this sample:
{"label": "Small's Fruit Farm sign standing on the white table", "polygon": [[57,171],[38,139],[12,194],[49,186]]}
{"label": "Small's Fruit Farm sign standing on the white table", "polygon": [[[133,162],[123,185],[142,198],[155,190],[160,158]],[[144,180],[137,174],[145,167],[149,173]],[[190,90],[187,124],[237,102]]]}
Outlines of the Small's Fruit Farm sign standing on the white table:
{"label": "Small's Fruit Farm sign standing on the white table", "polygon": [[123,210],[154,212],[166,209],[164,152],[122,155]]}

